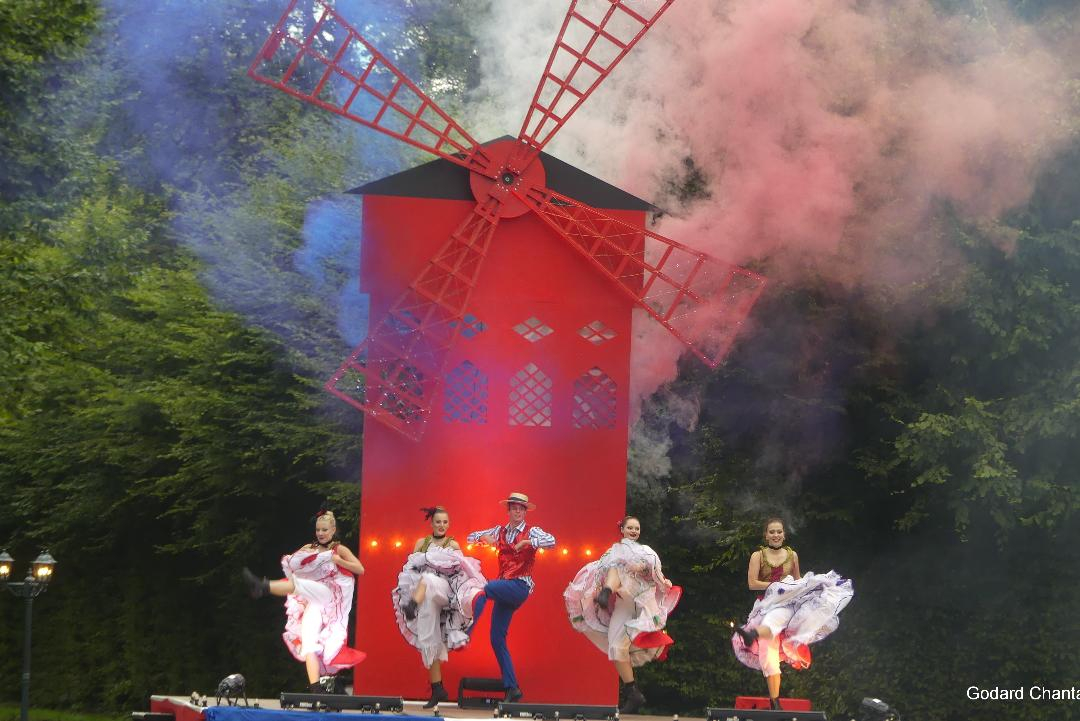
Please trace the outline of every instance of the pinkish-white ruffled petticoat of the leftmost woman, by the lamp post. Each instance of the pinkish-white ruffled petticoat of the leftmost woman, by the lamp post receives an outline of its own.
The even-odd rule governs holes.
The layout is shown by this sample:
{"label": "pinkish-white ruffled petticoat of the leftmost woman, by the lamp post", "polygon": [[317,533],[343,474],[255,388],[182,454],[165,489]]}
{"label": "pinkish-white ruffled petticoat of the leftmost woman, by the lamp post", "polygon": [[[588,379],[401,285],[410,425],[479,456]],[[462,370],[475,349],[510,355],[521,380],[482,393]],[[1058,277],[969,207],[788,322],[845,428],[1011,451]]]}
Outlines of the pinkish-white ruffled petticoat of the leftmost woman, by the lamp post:
{"label": "pinkish-white ruffled petticoat of the leftmost woman, by the lamp post", "polygon": [[[298,550],[282,556],[281,568],[296,590],[285,597],[285,647],[297,661],[319,656],[320,675],[355,666],[365,654],[347,645],[355,581],[333,561],[334,550]],[[307,613],[318,614],[309,617]],[[318,620],[318,623],[315,623]],[[307,632],[305,632],[307,631]]]}

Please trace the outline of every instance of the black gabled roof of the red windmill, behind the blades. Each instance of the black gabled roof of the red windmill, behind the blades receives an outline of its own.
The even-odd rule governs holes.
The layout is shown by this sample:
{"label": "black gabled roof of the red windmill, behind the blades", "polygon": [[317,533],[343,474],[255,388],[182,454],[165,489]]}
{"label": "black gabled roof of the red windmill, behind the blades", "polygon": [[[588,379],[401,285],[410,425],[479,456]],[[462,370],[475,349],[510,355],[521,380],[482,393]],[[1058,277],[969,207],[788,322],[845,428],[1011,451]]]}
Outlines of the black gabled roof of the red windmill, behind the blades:
{"label": "black gabled roof of the red windmill, behind the blades", "polygon": [[[508,139],[503,136],[496,140]],[[512,139],[512,138],[510,138]],[[489,145],[489,140],[483,145]],[[651,210],[653,206],[640,198],[604,182],[597,177],[564,163],[554,155],[540,153],[548,174],[545,185],[576,201],[597,208],[611,210]],[[469,171],[442,158],[417,165],[407,171],[364,183],[349,191],[357,195],[399,195],[405,198],[434,198],[442,200],[473,200],[469,188]]]}

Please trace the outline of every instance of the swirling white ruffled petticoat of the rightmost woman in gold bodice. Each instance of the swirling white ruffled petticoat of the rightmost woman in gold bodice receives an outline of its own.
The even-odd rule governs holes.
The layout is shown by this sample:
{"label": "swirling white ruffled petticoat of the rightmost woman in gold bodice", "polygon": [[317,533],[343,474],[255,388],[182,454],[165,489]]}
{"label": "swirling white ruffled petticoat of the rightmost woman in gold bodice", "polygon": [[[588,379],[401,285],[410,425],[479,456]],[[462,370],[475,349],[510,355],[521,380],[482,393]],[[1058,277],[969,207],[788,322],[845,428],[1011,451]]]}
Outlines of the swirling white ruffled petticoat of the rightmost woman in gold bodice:
{"label": "swirling white ruffled petticoat of the rightmost woman in gold bodice", "polygon": [[[773,623],[769,623],[778,639],[780,661],[793,668],[807,668],[812,662],[810,644],[837,629],[840,611],[854,595],[851,581],[835,571],[825,574],[809,572],[798,581],[788,575],[771,584],[765,596],[754,603],[745,627],[757,628],[766,616],[787,618],[789,615],[782,627],[773,628]],[[758,639],[747,648],[739,634],[731,637],[731,648],[739,661],[757,670],[761,670],[758,645],[762,642]]]}

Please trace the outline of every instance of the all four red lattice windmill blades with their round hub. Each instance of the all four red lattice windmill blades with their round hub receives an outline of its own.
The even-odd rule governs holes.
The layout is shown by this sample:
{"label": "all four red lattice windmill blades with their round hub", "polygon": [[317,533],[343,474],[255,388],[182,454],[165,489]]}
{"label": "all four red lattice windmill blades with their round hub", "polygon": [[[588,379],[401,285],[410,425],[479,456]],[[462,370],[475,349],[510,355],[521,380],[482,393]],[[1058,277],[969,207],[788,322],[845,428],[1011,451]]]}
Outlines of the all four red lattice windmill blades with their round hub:
{"label": "all four red lattice windmill blades with their round hub", "polygon": [[573,0],[517,138],[481,146],[327,0],[292,0],[248,74],[467,168],[476,201],[328,391],[419,438],[496,228],[529,212],[703,362],[724,359],[765,278],[546,188],[540,158],[673,1]]}

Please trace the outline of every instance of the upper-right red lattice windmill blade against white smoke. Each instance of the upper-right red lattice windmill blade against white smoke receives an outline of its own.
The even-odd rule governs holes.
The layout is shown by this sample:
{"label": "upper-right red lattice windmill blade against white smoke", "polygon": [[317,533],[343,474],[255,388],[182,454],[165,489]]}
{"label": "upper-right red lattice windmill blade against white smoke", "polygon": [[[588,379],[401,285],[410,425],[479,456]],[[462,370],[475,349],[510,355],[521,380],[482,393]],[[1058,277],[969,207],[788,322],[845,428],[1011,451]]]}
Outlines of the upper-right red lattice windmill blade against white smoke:
{"label": "upper-right red lattice windmill blade against white smoke", "polygon": [[573,0],[517,139],[539,152],[675,0]]}

